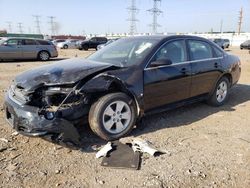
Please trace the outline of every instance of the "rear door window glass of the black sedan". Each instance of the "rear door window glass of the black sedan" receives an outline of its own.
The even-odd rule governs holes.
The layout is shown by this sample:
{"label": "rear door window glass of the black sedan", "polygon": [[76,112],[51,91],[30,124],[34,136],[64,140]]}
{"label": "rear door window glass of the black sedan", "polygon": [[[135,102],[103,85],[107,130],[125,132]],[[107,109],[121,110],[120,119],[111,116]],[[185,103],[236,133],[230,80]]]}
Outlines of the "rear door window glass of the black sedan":
{"label": "rear door window glass of the black sedan", "polygon": [[213,58],[211,46],[206,42],[189,40],[188,46],[192,61]]}

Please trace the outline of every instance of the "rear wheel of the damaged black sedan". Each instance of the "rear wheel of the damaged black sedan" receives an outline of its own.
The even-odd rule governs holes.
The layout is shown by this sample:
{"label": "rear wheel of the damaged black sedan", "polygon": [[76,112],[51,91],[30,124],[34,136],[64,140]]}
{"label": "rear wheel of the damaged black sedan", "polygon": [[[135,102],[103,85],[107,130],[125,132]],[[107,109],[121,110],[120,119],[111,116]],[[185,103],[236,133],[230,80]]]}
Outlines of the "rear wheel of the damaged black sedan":
{"label": "rear wheel of the damaged black sedan", "polygon": [[216,84],[216,88],[208,99],[208,104],[212,106],[222,106],[228,99],[228,92],[230,88],[229,80],[222,77]]}

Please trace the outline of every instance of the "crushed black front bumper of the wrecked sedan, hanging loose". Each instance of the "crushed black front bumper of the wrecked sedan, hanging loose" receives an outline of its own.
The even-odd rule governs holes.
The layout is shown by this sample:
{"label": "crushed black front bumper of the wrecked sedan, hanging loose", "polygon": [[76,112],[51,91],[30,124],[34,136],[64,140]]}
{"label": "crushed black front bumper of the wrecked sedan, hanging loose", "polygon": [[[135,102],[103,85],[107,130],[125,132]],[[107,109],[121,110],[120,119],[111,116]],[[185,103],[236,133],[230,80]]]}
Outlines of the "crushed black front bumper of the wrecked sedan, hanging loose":
{"label": "crushed black front bumper of the wrecked sedan, hanging loose", "polygon": [[64,133],[67,137],[78,138],[79,134],[70,121],[55,117],[48,120],[39,114],[39,108],[18,104],[7,93],[4,103],[6,120],[20,134],[26,136],[44,136],[46,134]]}

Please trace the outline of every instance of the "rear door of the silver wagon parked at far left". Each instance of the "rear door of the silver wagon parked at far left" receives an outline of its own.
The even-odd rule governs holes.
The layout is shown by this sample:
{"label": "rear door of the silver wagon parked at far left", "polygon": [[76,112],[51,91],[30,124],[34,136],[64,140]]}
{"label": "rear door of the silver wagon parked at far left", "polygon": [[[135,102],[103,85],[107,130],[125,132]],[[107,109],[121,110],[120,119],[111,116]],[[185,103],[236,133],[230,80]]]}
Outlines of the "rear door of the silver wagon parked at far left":
{"label": "rear door of the silver wagon parked at far left", "polygon": [[24,59],[35,59],[38,53],[38,44],[33,39],[24,39],[21,45]]}

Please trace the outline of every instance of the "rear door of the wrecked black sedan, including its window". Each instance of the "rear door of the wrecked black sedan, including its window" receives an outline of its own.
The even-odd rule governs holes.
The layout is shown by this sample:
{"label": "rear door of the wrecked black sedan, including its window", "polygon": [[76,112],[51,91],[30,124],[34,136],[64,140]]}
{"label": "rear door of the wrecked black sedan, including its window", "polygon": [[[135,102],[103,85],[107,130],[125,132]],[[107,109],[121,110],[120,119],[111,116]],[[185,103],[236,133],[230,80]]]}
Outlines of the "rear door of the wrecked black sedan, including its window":
{"label": "rear door of the wrecked black sedan, including its window", "polygon": [[191,97],[211,92],[221,75],[221,57],[216,57],[212,45],[205,41],[188,40],[188,50],[192,65]]}

